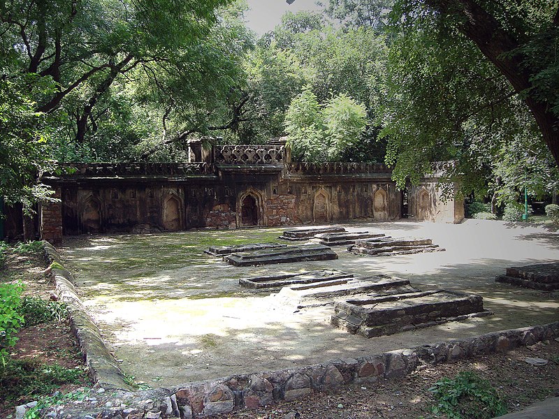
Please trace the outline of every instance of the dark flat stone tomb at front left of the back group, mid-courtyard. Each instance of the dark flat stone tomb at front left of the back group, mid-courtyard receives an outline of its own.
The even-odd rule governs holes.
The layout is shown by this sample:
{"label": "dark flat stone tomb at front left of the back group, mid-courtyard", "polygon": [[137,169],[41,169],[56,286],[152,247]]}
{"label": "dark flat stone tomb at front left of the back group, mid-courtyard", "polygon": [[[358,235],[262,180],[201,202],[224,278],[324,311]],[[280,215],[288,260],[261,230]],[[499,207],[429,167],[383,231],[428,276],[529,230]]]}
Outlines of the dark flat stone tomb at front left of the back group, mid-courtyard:
{"label": "dark flat stone tomb at front left of the back group, mid-courtyard", "polygon": [[273,263],[305,262],[308,260],[337,259],[337,254],[328,246],[309,244],[306,246],[287,246],[282,249],[257,250],[245,253],[231,253],[224,256],[230,265],[251,266],[271,265]]}

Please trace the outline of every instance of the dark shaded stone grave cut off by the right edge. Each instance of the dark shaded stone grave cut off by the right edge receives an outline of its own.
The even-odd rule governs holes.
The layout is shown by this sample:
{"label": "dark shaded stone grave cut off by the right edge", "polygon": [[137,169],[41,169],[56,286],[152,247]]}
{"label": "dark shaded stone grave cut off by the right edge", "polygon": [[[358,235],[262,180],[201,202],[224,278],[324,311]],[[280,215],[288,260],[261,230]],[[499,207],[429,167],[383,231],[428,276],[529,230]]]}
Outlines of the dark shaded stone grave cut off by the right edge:
{"label": "dark shaded stone grave cut off by the right edge", "polygon": [[495,281],[540,291],[559,290],[559,263],[507,267],[507,273]]}

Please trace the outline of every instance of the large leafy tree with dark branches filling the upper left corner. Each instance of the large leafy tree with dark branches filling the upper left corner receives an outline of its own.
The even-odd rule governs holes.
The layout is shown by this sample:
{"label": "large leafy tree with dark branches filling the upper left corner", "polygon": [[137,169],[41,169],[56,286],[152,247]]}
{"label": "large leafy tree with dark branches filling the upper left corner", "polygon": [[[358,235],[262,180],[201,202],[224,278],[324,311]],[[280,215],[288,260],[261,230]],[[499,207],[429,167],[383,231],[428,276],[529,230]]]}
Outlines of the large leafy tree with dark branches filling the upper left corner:
{"label": "large leafy tree with dark branches filling the upper left corner", "polygon": [[[126,83],[138,87],[128,92],[127,103],[138,104],[131,95],[140,91],[140,104],[165,98],[159,105],[165,125],[169,107],[215,105],[213,100],[225,101],[236,82],[238,66],[233,64],[238,63],[235,55],[244,45],[234,29],[226,26],[226,19],[220,17],[218,22],[215,10],[226,3],[3,2],[0,52],[15,58],[3,68],[3,77],[27,80],[27,75],[37,75],[54,82],[55,89],[33,98],[34,110],[64,115],[60,133],[78,145],[85,144],[103,124],[119,119],[115,112],[126,106],[117,104],[119,92],[114,88]],[[210,109],[215,108],[212,105]],[[197,129],[209,123],[207,117],[189,122]]]}

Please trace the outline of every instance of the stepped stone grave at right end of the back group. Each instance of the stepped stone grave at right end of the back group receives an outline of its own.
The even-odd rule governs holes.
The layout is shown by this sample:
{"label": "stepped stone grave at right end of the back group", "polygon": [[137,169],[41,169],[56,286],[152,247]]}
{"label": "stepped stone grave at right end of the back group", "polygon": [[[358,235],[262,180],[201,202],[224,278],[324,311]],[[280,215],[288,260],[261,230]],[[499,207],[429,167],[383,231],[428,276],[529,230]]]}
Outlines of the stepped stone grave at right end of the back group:
{"label": "stepped stone grave at right end of the back group", "polygon": [[359,239],[347,248],[347,251],[370,256],[407,255],[444,250],[438,244],[433,244],[431,239],[396,239],[390,236]]}

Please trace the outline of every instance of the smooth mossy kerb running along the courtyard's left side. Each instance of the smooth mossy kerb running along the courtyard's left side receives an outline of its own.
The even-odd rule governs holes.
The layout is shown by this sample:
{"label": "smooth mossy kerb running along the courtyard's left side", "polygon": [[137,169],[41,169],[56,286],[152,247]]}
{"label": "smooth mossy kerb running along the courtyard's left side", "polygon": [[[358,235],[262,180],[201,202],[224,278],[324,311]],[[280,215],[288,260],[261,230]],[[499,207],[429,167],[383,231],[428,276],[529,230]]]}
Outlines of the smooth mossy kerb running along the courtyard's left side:
{"label": "smooth mossy kerb running along the courtyard's left side", "polygon": [[99,328],[78,297],[73,285],[73,277],[64,269],[57,250],[46,241],[43,241],[43,249],[49,265],[48,271],[55,283],[59,300],[68,306],[71,329],[80,344],[80,351],[89,369],[89,376],[95,383],[99,383],[105,388],[132,390],[103,342]]}

